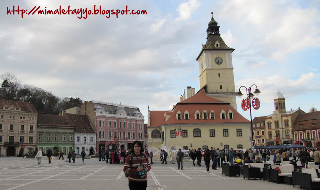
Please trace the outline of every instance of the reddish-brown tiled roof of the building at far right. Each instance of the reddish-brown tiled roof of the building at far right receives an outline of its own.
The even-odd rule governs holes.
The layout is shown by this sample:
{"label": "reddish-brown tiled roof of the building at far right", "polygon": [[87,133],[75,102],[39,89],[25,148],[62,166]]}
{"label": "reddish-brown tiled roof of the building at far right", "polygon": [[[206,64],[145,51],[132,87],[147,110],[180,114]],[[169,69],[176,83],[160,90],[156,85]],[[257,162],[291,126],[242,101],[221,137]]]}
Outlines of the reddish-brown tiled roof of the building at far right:
{"label": "reddish-brown tiled roof of the building at far right", "polygon": [[300,114],[294,121],[292,131],[310,129],[320,129],[320,111]]}

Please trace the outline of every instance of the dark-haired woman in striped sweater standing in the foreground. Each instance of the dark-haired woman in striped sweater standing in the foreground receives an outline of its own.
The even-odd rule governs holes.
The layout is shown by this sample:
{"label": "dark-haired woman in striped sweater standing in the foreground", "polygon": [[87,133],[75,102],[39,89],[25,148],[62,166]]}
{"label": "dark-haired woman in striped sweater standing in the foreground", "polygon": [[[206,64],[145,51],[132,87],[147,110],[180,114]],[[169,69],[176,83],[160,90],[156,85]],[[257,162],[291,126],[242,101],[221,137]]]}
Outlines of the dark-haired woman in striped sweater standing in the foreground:
{"label": "dark-haired woman in striped sweater standing in the foreground", "polygon": [[[147,171],[151,170],[151,164],[143,153],[143,145],[140,141],[133,143],[133,152],[128,155],[123,172],[129,174],[130,190],[146,190],[148,186]],[[133,158],[131,158],[133,156]]]}

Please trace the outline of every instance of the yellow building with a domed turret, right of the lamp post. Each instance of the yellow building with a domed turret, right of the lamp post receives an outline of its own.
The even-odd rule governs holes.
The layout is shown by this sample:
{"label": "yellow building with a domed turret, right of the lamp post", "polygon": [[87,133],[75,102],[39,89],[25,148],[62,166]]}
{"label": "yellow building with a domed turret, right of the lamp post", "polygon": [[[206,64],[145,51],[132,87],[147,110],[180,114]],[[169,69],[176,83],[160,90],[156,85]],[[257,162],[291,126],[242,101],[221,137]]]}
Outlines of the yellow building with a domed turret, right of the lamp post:
{"label": "yellow building with a domed turret, right of the lamp post", "polygon": [[286,111],[285,98],[281,92],[278,92],[274,98],[274,113],[266,116],[265,125],[267,132],[266,145],[285,145],[292,144],[292,126],[293,122],[299,114],[305,113],[304,111],[290,110]]}

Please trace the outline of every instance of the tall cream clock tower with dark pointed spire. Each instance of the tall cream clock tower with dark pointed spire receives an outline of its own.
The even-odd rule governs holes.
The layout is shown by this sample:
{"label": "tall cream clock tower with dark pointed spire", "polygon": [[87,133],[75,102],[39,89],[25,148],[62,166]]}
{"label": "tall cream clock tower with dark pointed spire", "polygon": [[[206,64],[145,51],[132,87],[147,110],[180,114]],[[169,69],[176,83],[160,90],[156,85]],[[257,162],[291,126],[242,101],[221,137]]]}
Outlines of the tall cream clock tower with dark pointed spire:
{"label": "tall cream clock tower with dark pointed spire", "polygon": [[220,26],[213,18],[208,24],[207,40],[196,58],[200,68],[200,89],[208,96],[229,102],[236,109],[236,90],[232,64],[232,52],[220,36]]}

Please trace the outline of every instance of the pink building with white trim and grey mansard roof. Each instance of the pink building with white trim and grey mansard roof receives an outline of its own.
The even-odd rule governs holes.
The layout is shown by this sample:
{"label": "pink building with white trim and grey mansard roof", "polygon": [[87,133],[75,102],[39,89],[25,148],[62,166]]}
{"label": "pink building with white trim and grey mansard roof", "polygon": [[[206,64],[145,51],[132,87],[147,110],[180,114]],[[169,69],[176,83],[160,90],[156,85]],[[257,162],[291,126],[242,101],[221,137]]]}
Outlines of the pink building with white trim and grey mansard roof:
{"label": "pink building with white trim and grey mansard roof", "polygon": [[144,144],[144,116],[138,107],[90,101],[81,106],[81,114],[96,131],[99,151],[130,149],[136,140]]}

